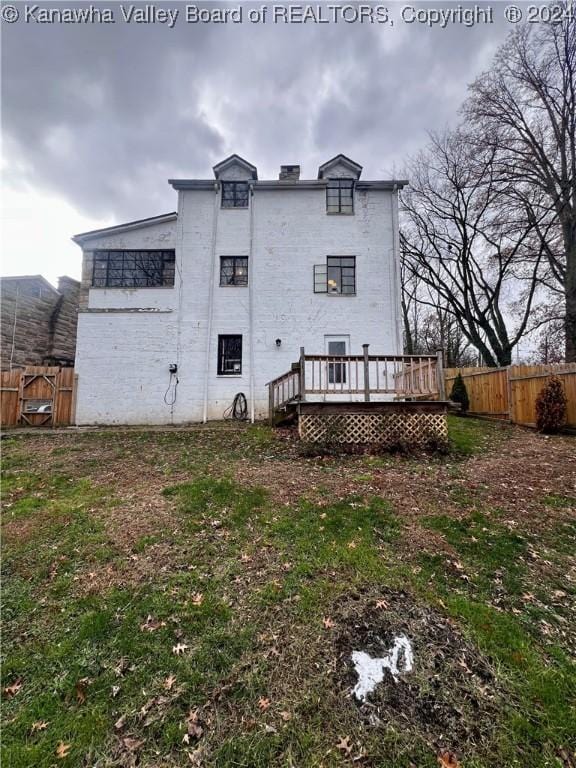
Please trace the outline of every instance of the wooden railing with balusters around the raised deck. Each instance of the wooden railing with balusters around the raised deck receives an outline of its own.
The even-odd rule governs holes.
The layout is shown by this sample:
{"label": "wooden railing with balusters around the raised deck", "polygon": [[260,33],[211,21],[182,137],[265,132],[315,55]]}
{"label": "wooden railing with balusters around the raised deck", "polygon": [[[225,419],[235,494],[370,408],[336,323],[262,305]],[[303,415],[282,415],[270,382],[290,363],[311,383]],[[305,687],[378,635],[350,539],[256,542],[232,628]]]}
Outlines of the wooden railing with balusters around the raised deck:
{"label": "wooden railing with balusters around the raised deck", "polygon": [[270,415],[307,396],[393,395],[396,400],[444,400],[442,352],[436,355],[306,355],[292,369],[269,382]]}

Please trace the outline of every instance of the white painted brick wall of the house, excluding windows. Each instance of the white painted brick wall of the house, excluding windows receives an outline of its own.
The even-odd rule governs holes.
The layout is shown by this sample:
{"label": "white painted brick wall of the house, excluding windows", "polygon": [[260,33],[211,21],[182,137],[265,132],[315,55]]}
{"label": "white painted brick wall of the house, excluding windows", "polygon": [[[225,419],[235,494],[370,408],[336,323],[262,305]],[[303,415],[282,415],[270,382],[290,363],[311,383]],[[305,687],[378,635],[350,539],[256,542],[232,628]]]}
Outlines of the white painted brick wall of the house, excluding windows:
{"label": "white painted brick wall of the house, excluding windows", "polygon": [[[222,418],[237,392],[250,393],[247,287],[220,287],[220,256],[250,252],[250,212],[215,208],[212,191],[183,191],[177,223],[92,241],[96,248],[176,248],[173,289],[91,289],[91,310],[152,308],[163,312],[91,312],[79,318],[79,424],[186,423],[202,418],[214,212],[217,237],[209,351],[210,419]],[[219,202],[219,199],[218,199]],[[401,352],[397,273],[389,191],[356,191],[355,214],[326,214],[325,191],[263,190],[253,198],[249,263],[254,327],[255,411],[265,417],[266,383],[289,370],[300,346],[325,351],[324,337],[349,335],[350,353]],[[355,296],[315,294],[313,267],[326,256],[356,256]],[[180,285],[180,275],[182,284]],[[217,376],[218,334],[243,335],[239,377]],[[282,345],[276,347],[280,338]],[[179,366],[178,396],[164,402],[168,365]]]}

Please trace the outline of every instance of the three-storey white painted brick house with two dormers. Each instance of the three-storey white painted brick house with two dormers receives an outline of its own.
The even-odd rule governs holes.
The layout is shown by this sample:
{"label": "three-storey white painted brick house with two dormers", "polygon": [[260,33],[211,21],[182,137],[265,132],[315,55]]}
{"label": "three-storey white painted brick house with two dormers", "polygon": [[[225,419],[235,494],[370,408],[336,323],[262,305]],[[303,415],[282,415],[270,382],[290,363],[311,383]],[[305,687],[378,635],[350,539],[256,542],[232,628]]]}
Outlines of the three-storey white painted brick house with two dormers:
{"label": "three-storey white painted brick house with two dormers", "polygon": [[[343,155],[301,180],[258,180],[237,155],[215,179],[170,180],[178,211],[76,235],[83,276],[78,424],[221,419],[312,354],[401,354],[398,188]],[[170,366],[177,366],[171,373]]]}

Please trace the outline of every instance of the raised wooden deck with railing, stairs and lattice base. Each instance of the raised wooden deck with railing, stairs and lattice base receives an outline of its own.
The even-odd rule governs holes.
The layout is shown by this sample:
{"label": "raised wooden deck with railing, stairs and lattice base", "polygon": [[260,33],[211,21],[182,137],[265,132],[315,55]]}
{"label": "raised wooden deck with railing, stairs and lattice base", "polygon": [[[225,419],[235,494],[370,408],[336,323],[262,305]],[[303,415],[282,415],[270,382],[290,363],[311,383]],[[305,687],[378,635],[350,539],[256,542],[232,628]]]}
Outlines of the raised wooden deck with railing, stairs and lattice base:
{"label": "raised wooden deck with railing, stairs and lattice base", "polygon": [[442,356],[306,355],[268,384],[272,424],[311,442],[424,444],[447,439]]}

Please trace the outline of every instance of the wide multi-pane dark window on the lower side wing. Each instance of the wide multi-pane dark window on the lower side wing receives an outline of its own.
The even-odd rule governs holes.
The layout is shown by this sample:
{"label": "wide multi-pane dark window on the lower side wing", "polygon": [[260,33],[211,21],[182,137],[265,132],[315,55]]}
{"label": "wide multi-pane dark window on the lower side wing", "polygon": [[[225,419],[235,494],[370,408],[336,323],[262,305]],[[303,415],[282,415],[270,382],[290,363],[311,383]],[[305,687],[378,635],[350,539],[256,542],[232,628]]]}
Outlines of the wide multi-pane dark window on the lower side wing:
{"label": "wide multi-pane dark window on the lower side wing", "polygon": [[95,251],[94,288],[154,288],[174,285],[175,252]]}

